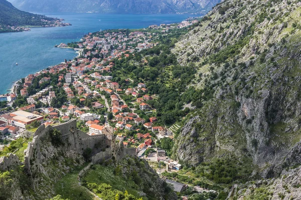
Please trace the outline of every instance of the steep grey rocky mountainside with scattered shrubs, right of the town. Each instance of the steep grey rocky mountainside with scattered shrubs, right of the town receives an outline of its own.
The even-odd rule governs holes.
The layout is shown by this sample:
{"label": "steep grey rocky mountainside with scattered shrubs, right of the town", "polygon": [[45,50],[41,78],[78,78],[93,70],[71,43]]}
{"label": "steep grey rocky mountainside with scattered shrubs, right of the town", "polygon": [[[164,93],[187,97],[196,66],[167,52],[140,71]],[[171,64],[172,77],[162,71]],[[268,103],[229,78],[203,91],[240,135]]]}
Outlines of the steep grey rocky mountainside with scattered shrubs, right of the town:
{"label": "steep grey rocky mountainside with scattered shrubs, right of the town", "polygon": [[227,0],[176,44],[180,62],[198,65],[192,86],[202,107],[182,128],[175,158],[246,156],[264,177],[300,162],[300,6]]}

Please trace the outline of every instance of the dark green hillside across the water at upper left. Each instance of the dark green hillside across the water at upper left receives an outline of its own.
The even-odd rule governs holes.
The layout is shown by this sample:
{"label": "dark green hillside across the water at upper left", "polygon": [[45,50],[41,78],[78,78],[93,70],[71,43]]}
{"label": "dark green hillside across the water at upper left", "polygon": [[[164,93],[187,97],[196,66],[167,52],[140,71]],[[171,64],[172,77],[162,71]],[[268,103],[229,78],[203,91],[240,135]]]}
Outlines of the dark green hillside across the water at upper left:
{"label": "dark green hillside across the water at upper left", "polygon": [[54,18],[46,17],[44,15],[32,14],[21,11],[14,7],[12,3],[7,0],[0,0],[0,25],[46,25],[48,22],[54,21]]}

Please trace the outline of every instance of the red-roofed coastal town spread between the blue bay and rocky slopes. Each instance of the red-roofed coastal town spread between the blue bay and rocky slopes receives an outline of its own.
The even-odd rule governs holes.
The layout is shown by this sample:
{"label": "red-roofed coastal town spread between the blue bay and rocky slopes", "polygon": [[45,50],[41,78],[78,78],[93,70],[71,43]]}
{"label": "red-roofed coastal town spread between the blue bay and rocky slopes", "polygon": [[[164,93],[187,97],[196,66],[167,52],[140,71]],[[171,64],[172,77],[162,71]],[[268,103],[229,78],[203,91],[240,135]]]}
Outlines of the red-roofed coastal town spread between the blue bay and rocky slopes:
{"label": "red-roofed coastal town spread between the blue bay and rocky slopes", "polygon": [[[149,102],[159,96],[149,93],[147,82],[120,77],[114,68],[116,60],[134,59],[135,53],[156,47],[162,34],[196,22],[150,25],[134,31],[105,30],[88,33],[80,42],[61,43],[57,47],[76,48],[79,56],[29,74],[15,83],[12,93],[0,96],[0,101],[10,106],[0,115],[0,147],[35,132],[41,124],[52,126],[76,119],[77,128],[89,135],[112,130],[124,147],[135,147],[138,157],[159,164],[159,174],[181,170],[179,161],[164,149],[164,143],[173,142],[181,124],[158,121],[157,110]],[[177,192],[189,186],[164,174],[161,177]]]}

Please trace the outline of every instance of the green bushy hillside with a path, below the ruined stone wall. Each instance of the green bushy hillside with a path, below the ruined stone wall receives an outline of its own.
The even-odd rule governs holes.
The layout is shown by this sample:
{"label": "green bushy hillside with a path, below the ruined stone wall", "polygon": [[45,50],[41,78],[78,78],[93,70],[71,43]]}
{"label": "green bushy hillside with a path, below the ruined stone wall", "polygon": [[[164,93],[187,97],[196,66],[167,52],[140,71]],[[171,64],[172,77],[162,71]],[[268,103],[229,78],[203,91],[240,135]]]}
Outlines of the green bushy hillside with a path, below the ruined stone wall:
{"label": "green bushy hillside with a path, below the ruined stone wall", "polygon": [[172,189],[137,157],[128,156],[118,162],[109,159],[103,164],[91,165],[79,177],[84,166],[86,164],[60,178],[55,183],[56,194],[70,200],[94,199],[92,192],[104,200],[155,200],[158,195],[168,199],[172,194]]}

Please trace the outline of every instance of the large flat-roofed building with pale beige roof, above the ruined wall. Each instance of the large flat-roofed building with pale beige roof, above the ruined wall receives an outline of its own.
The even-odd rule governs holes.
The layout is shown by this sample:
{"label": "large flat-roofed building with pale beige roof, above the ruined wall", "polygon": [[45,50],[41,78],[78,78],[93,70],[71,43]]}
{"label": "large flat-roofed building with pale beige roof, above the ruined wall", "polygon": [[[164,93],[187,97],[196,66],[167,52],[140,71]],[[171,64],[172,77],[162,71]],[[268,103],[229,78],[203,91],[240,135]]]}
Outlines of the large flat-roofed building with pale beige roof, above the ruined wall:
{"label": "large flat-roofed building with pale beige roof, above the ruined wall", "polygon": [[34,114],[31,112],[27,112],[24,110],[18,110],[16,112],[10,113],[11,118],[9,119],[9,123],[11,125],[25,128],[26,125],[30,124],[34,120],[38,120],[43,122],[44,117],[39,114]]}

